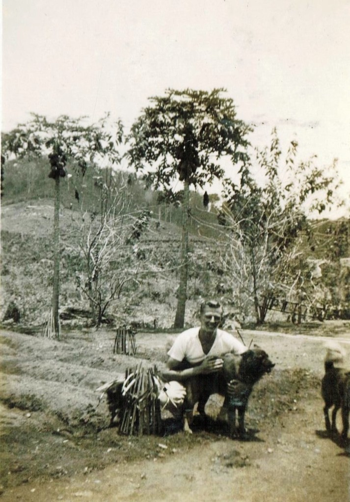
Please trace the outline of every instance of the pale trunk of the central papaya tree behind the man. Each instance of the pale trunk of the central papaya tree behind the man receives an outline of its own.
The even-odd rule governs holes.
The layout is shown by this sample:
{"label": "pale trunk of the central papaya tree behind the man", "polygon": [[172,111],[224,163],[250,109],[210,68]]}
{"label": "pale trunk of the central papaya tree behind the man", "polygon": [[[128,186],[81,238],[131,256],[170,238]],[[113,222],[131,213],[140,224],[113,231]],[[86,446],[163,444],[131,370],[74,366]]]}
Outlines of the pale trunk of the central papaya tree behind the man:
{"label": "pale trunk of the central papaya tree behind the man", "polygon": [[190,210],[190,184],[184,182],[184,209],[183,229],[181,243],[180,285],[178,293],[178,306],[174,321],[174,328],[183,328],[185,322],[185,308],[187,300],[187,279],[189,269],[189,210]]}

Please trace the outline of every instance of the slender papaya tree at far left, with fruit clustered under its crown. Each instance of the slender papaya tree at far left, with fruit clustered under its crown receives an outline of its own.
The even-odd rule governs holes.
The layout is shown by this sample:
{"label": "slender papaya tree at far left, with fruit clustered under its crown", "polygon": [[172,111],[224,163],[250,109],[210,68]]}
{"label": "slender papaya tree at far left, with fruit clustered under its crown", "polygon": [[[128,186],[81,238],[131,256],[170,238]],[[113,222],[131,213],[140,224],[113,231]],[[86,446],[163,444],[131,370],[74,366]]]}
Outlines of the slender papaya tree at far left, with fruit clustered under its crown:
{"label": "slender papaya tree at far left, with fruit clustered under its crown", "polygon": [[60,179],[66,175],[68,159],[74,160],[85,173],[89,163],[106,162],[109,165],[120,162],[118,146],[123,139],[121,121],[109,123],[109,115],[97,123],[86,123],[86,117],[78,119],[67,115],[49,121],[45,116],[33,113],[32,119],[2,137],[2,153],[5,158],[11,154],[19,158],[48,156],[50,164],[49,178],[55,182],[54,196],[54,271],[52,311],[55,336],[59,331],[59,205]]}

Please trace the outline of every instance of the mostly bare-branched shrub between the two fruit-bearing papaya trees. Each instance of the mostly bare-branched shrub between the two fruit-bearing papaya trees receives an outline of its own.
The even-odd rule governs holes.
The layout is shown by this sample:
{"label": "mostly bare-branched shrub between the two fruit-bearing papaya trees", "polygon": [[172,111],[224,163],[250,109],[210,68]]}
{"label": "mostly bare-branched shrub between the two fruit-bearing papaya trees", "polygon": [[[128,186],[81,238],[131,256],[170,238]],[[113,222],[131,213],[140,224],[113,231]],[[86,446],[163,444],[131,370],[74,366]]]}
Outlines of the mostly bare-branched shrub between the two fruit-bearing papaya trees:
{"label": "mostly bare-branched shrub between the two fruit-bearing papaya trees", "polygon": [[88,298],[97,327],[126,284],[137,282],[138,260],[133,244],[149,219],[146,211],[131,213],[128,184],[121,185],[121,177],[118,178],[110,177],[106,183],[98,177],[100,212],[81,213],[78,245],[74,249],[81,263],[75,272],[76,285]]}

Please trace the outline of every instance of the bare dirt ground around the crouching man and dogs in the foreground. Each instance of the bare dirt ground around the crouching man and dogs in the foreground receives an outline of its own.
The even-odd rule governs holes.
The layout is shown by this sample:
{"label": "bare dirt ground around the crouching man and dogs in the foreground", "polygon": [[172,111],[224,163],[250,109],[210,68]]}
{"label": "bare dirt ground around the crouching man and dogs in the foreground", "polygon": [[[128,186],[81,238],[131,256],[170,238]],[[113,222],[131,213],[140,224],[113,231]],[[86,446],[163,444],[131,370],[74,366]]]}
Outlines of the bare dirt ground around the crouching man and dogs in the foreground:
{"label": "bare dirt ground around the crouching man and dogs in the foreground", "polygon": [[[65,332],[62,341],[1,331],[2,499],[136,501],[349,500],[349,443],[324,431],[324,341],[350,348],[350,323],[299,333],[242,330],[276,362],[250,397],[249,441],[231,440],[217,419],[194,433],[164,414],[160,436],[109,427],[101,385],[134,367],[165,362],[164,333],[137,333],[136,357],[113,354],[114,332]],[[340,429],[340,417],[338,417]]]}

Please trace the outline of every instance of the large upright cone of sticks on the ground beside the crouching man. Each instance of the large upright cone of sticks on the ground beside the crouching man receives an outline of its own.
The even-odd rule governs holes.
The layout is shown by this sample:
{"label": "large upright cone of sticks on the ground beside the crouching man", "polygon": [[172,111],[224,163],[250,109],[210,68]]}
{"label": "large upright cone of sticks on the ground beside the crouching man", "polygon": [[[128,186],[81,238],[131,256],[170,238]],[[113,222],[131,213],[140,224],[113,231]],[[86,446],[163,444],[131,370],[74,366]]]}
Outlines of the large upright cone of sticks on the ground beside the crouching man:
{"label": "large upright cone of sticks on the ground beside the crouching man", "polygon": [[154,369],[143,369],[142,363],[125,372],[120,432],[129,436],[159,434],[161,431],[160,404]]}

